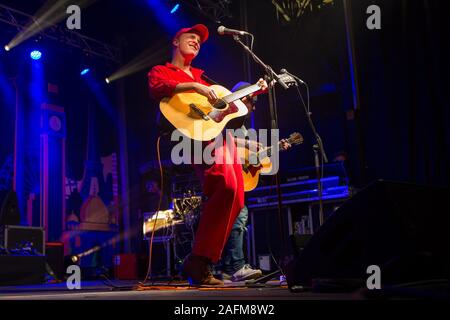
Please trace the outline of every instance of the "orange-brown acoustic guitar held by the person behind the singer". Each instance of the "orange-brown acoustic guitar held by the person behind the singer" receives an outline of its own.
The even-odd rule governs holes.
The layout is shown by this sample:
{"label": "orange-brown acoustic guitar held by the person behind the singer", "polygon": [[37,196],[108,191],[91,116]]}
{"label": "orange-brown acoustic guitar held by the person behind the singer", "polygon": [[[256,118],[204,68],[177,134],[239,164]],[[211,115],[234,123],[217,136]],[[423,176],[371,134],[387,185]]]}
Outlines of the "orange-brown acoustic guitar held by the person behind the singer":
{"label": "orange-brown acoustic guitar held by the person behind the singer", "polygon": [[[303,143],[303,136],[298,133],[292,133],[287,142],[291,145]],[[281,147],[281,141],[278,142],[275,152]],[[248,148],[238,147],[238,154],[242,161],[242,176],[244,178],[244,191],[251,191],[256,188],[261,173],[269,173],[272,170],[272,162],[270,156],[274,151],[274,147],[266,147],[257,152],[251,152]]]}

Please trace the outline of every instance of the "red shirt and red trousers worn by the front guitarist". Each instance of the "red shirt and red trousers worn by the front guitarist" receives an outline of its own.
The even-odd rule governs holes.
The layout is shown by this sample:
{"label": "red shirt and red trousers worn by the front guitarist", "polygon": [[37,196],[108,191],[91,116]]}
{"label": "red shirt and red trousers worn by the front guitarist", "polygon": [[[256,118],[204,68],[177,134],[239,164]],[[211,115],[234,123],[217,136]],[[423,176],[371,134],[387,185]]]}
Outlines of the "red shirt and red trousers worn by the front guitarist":
{"label": "red shirt and red trousers worn by the front guitarist", "polygon": [[[201,78],[203,70],[191,67],[191,72],[194,78],[170,63],[153,67],[148,74],[152,97],[157,100],[170,97],[179,83],[210,85]],[[226,155],[232,155],[234,163],[194,165],[203,183],[203,194],[208,200],[202,207],[192,252],[212,262],[220,259],[234,221],[244,207],[244,182],[242,167],[237,161],[236,145],[232,143],[227,146],[224,139],[223,146],[216,150],[216,158]]]}

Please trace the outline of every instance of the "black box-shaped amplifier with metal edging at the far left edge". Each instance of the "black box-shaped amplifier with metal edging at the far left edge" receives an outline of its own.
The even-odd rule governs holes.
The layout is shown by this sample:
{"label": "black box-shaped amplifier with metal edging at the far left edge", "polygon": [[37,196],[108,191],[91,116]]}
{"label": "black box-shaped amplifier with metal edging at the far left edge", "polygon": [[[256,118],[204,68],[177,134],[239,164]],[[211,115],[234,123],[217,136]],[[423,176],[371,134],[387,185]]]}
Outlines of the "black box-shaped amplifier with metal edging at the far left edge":
{"label": "black box-shaped amplifier with metal edging at the far left edge", "polygon": [[45,255],[43,228],[7,225],[0,233],[2,246],[12,254]]}

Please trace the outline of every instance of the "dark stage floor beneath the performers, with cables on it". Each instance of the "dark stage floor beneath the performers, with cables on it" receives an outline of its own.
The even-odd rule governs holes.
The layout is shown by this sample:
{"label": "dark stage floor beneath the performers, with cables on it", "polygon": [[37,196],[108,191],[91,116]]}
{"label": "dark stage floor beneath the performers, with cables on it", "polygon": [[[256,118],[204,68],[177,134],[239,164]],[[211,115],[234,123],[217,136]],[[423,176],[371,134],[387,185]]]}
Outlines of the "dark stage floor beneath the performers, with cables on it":
{"label": "dark stage floor beneath the performers, with cables on it", "polygon": [[278,281],[247,287],[244,282],[221,288],[195,288],[184,283],[137,287],[133,281],[83,281],[81,290],[68,290],[65,283],[0,287],[0,300],[355,300],[355,294],[293,293]]}

